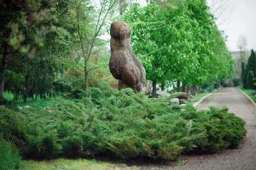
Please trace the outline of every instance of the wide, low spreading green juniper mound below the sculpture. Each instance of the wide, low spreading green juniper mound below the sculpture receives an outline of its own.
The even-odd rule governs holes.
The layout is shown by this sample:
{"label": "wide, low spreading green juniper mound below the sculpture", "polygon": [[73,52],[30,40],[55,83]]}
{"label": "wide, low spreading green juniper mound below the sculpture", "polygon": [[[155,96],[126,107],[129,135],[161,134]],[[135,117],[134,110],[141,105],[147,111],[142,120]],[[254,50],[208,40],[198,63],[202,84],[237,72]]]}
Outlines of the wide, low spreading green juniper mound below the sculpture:
{"label": "wide, low spreading green juniper mound below the sculpture", "polygon": [[9,132],[24,157],[109,156],[173,160],[181,153],[236,148],[245,122],[228,108],[196,111],[148,99],[131,89],[102,85],[51,111],[31,106],[15,112],[0,106],[0,132]]}

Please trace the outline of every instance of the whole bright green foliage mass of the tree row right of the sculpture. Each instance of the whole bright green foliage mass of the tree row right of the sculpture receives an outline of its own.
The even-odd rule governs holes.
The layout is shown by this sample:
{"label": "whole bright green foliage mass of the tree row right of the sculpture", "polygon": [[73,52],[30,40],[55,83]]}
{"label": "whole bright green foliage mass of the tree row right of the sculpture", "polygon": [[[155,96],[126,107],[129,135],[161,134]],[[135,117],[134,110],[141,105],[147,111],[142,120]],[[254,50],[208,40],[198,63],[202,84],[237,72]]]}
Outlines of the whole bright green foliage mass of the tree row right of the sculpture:
{"label": "whole bright green foliage mass of the tree row right of the sculpture", "polygon": [[234,71],[206,1],[157,1],[143,8],[134,4],[122,19],[132,27],[133,50],[148,80],[202,85]]}

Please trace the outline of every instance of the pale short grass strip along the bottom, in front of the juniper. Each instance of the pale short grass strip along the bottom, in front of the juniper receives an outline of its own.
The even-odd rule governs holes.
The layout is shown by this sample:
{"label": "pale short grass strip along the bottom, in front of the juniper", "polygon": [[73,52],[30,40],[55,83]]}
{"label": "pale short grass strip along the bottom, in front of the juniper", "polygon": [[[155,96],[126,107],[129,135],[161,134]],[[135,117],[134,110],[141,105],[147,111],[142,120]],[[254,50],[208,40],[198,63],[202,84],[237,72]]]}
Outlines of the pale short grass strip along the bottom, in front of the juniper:
{"label": "pale short grass strip along the bottom, in front of the juniper", "polygon": [[99,160],[86,159],[54,159],[54,160],[22,160],[22,169],[48,170],[48,169],[139,169],[136,166],[128,167],[126,164],[116,164]]}

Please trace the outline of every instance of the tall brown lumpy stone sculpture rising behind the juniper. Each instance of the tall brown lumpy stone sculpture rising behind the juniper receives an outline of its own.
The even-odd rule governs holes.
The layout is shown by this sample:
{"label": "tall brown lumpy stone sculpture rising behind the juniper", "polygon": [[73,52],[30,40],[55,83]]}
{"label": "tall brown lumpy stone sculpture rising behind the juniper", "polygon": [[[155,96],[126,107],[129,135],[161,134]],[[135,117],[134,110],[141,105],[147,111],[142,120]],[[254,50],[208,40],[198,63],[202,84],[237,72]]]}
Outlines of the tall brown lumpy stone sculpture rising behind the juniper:
{"label": "tall brown lumpy stone sculpture rising behind the juniper", "polygon": [[111,58],[109,69],[119,80],[118,89],[130,87],[134,92],[144,92],[145,68],[132,52],[131,28],[125,22],[113,22],[110,28]]}

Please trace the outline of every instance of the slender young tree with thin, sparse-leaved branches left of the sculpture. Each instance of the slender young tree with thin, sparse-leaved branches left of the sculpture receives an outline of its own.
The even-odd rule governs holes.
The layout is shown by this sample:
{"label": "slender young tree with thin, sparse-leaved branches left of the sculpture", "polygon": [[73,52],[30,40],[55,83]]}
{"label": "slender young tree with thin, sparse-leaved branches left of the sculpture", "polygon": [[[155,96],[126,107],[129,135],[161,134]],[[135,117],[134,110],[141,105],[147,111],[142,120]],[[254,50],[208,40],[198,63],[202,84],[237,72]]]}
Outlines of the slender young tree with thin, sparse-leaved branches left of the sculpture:
{"label": "slender young tree with thin, sparse-leaved branches left of the sculpture", "polygon": [[106,19],[114,10],[117,0],[103,0],[100,1],[99,6],[90,6],[92,1],[76,0],[74,11],[76,12],[76,32],[77,42],[79,45],[79,54],[84,60],[84,89],[88,89],[88,73],[93,69],[102,66],[88,67],[88,61],[95,46],[100,43],[100,36],[104,34],[108,22]]}

